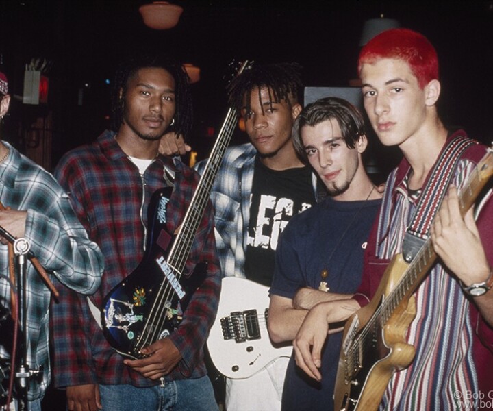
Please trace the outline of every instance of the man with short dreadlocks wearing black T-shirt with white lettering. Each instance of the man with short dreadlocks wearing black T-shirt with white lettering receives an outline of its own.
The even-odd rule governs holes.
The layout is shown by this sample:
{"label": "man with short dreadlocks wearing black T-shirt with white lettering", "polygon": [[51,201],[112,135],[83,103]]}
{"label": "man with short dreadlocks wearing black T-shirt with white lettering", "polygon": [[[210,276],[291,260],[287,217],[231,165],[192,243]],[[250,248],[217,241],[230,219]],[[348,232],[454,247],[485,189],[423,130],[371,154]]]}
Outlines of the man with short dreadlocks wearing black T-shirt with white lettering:
{"label": "man with short dreadlocks wearing black T-shirt with white lettering", "polygon": [[[212,188],[223,275],[263,284],[266,295],[279,234],[294,214],[316,203],[316,177],[291,140],[301,112],[300,72],[295,63],[255,64],[233,79],[229,104],[244,119],[251,143],[227,149]],[[164,140],[164,151],[184,152],[173,136]],[[199,173],[204,166],[197,165]],[[287,364],[279,358],[252,377],[227,379],[227,410],[280,410]]]}

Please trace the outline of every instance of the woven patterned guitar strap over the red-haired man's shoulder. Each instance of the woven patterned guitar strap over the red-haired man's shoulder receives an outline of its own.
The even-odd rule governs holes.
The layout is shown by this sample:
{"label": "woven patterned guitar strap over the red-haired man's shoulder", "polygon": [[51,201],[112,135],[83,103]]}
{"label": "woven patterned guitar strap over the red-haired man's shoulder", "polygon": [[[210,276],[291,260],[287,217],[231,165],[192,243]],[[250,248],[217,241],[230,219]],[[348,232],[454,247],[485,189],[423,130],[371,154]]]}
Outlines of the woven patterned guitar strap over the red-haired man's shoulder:
{"label": "woven patterned guitar strap over the red-haired man's shoulder", "polygon": [[402,251],[406,262],[413,260],[427,240],[435,213],[440,208],[462,153],[473,144],[477,144],[475,140],[459,135],[448,140],[442,149],[404,235]]}

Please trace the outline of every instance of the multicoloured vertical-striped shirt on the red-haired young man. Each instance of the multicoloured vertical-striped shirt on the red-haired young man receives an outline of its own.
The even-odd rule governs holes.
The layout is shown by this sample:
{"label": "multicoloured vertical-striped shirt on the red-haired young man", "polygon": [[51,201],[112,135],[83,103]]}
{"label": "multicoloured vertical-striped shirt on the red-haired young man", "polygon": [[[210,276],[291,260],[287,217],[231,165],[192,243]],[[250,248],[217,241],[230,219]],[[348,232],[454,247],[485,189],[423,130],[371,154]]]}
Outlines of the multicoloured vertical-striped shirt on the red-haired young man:
{"label": "multicoloured vertical-striped shirt on the red-haired young man", "polygon": [[[478,152],[485,152],[485,147],[476,145],[472,151],[477,157]],[[466,153],[459,160],[452,183],[460,189],[474,168],[475,162],[469,160]],[[359,288],[365,295],[373,295],[378,286],[377,279],[370,279],[372,273],[380,270],[375,268],[378,262],[388,262],[401,252],[403,236],[416,210],[420,192],[409,194],[408,173],[409,164],[403,160],[388,177],[377,239],[372,235],[368,244],[368,253],[376,250],[376,255],[369,257],[374,268],[368,268],[366,256]],[[492,219],[486,229],[493,229]],[[394,373],[381,409],[455,409],[457,393],[479,392],[474,352],[479,333],[477,310],[464,295],[459,282],[441,264],[433,266],[415,297],[416,318],[407,330],[406,339],[416,347],[416,356],[407,369]],[[481,326],[487,327],[485,323]],[[492,360],[491,353],[488,360]]]}

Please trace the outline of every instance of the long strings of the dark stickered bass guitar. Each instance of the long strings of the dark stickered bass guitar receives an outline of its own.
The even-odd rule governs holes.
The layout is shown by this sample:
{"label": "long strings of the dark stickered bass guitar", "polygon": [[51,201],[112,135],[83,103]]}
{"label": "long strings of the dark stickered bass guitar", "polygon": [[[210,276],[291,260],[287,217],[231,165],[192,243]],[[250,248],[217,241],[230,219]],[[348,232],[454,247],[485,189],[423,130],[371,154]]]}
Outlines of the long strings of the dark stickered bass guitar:
{"label": "long strings of the dark stickered bass guitar", "polygon": [[[236,118],[233,117],[233,110],[230,109],[228,114],[227,114],[227,119],[225,121],[225,127],[224,127],[225,133],[232,135],[232,131],[233,131],[234,127],[236,127]],[[227,140],[229,140],[231,138],[231,135],[223,138],[222,139],[223,141],[220,141],[217,145],[218,154],[221,153],[221,151],[222,151],[222,153],[220,155],[221,161],[222,161],[225,149],[227,147]],[[220,140],[220,139],[218,139],[218,140]],[[204,184],[202,185],[202,187],[205,187],[207,185],[212,187],[213,180],[215,178],[217,170],[219,169],[219,166],[220,166],[220,162],[216,162],[216,164],[213,164],[213,167],[209,169],[209,170],[212,170],[211,173],[207,174],[207,171],[206,171],[206,173],[204,174],[204,179],[203,179]],[[207,183],[207,184],[205,184],[205,183]],[[199,187],[199,189],[200,188],[201,187]],[[199,191],[199,190],[197,190],[197,191]],[[207,201],[210,197],[210,195],[209,195],[210,187],[207,188],[207,190],[201,190],[201,191],[207,191],[207,198],[205,198],[205,194],[202,194],[201,197],[199,197],[199,201],[198,201],[199,206],[201,206],[199,208],[204,209],[205,204],[207,203]],[[181,245],[181,242],[184,243],[184,245],[181,247],[173,247],[173,249],[179,250],[177,257],[174,258],[175,253],[173,253],[173,249],[170,251],[169,260],[171,262],[169,265],[173,266],[173,268],[174,268],[173,271],[175,271],[175,275],[176,275],[178,280],[181,278],[181,272],[183,271],[184,266],[186,264],[186,259],[188,258],[189,252],[186,252],[186,249],[190,248],[191,243],[194,240],[194,236],[195,236],[194,232],[196,232],[198,229],[199,223],[200,223],[202,216],[203,216],[203,212],[200,213],[201,216],[198,216],[197,214],[199,214],[199,213],[195,212],[195,214],[191,214],[192,216],[190,217],[190,220],[192,220],[191,222],[193,223],[192,229],[184,230],[184,238],[185,239],[183,241],[180,241],[181,240],[181,237],[180,237],[179,241],[175,242],[175,244],[178,243],[179,245]],[[194,227],[194,229],[193,229],[193,227]],[[174,260],[176,260],[176,262],[173,263]],[[178,271],[176,271],[175,267],[178,267]],[[149,341],[151,341],[151,342],[155,341],[157,339],[157,334],[162,333],[162,328],[164,326],[164,323],[166,322],[166,314],[164,314],[164,312],[166,310],[166,304],[168,304],[167,301],[171,301],[173,299],[173,294],[176,294],[175,290],[173,290],[173,288],[170,286],[169,282],[166,281],[166,279],[164,280],[163,284],[164,283],[166,283],[166,285],[164,286],[164,289],[161,286],[160,290],[158,290],[158,292],[157,292],[157,297],[155,299],[157,304],[154,303],[153,308],[151,308],[151,314],[149,314],[149,320],[147,321],[148,326],[144,327],[144,329],[148,330],[147,338],[141,339],[142,344],[140,345],[140,348],[144,347],[145,345],[148,345]],[[154,312],[154,314],[152,314],[153,312]],[[161,315],[158,316],[157,313],[160,313]],[[157,320],[158,320],[157,324],[155,324],[153,321],[154,317],[157,318]],[[151,324],[152,326],[149,327],[149,324]],[[149,332],[151,334],[149,334]]]}

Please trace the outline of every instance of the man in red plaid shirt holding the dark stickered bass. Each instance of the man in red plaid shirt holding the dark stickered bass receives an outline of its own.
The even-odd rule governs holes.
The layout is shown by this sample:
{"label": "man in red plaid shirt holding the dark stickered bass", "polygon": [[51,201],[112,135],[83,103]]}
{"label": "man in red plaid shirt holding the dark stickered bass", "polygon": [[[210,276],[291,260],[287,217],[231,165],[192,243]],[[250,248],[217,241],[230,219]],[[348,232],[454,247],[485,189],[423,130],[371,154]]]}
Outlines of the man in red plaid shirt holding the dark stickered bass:
{"label": "man in red plaid shirt holding the dark stickered bass", "polygon": [[220,290],[210,204],[186,265],[192,272],[197,262],[207,261],[207,275],[175,332],[144,347],[145,358],[124,359],[91,315],[142,260],[153,192],[173,186],[166,205],[170,233],[184,219],[199,175],[159,155],[157,148],[165,132],[190,129],[187,80],[181,65],[162,55],[140,56],[121,66],[113,92],[114,131],[69,152],[55,170],[105,257],[103,282],[91,300],[64,290],[55,306],[55,385],[66,387],[68,410],[218,409],[203,362]]}

